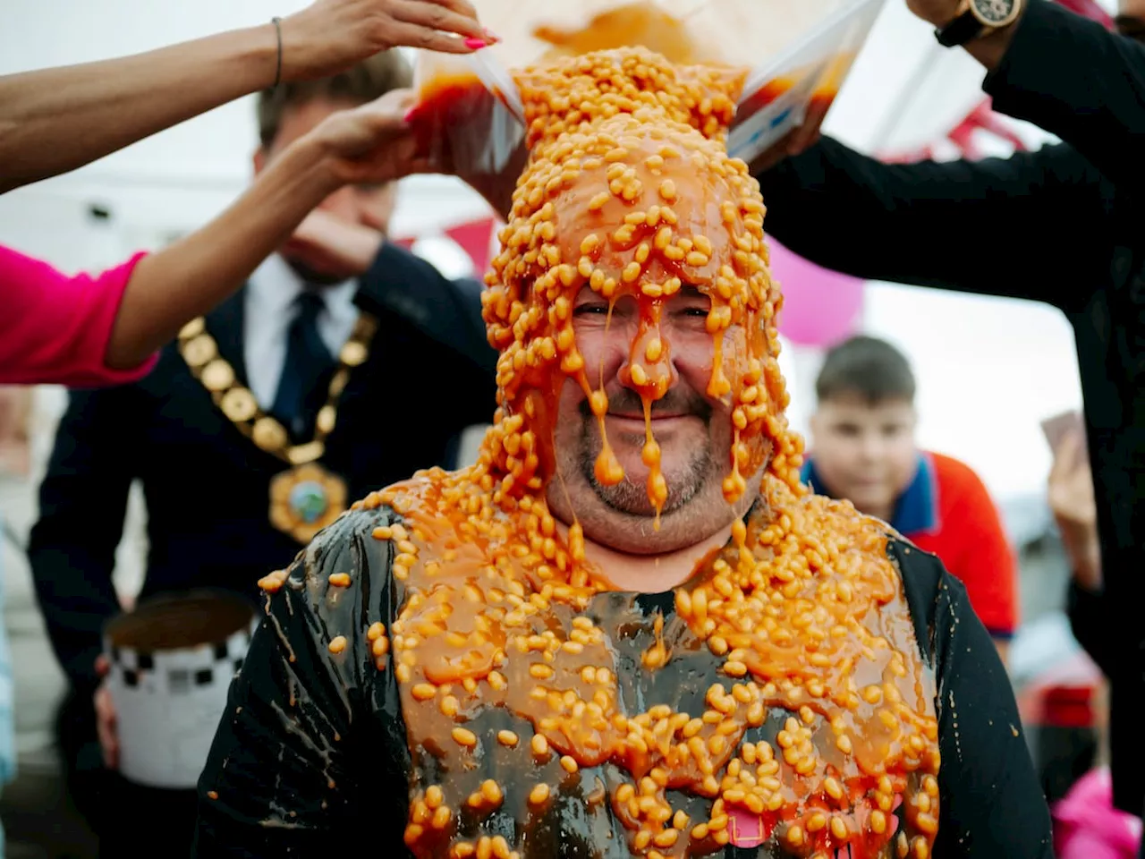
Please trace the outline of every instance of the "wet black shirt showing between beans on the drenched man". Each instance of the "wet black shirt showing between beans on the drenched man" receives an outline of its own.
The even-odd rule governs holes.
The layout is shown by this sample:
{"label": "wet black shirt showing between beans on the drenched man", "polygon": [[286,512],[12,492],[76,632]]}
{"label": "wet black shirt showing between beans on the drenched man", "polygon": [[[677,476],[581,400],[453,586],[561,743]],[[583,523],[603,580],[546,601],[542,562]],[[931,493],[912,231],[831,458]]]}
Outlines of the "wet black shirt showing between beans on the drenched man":
{"label": "wet black shirt showing between beans on the drenched man", "polygon": [[[268,598],[267,617],[231,688],[200,779],[195,856],[318,858],[362,849],[408,854],[411,757],[402,703],[392,665],[376,668],[366,639],[371,624],[390,626],[404,599],[404,586],[390,575],[392,542],[372,537],[376,527],[395,519],[387,507],[344,517]],[[1051,859],[1049,812],[989,635],[937,558],[895,538],[889,552],[902,570],[922,657],[935,679],[942,765],[933,856]],[[332,573],[349,573],[349,586],[332,586]],[[601,614],[615,616],[621,608],[637,618],[611,638],[618,683],[627,689],[622,696],[638,710],[669,703],[693,711],[696,702],[702,710],[704,691],[718,679],[714,669],[696,675],[673,671],[671,661],[657,671],[641,665],[654,618],[663,614],[665,630],[673,621],[672,594],[603,592],[590,615],[606,608],[595,600],[617,604]],[[335,655],[329,643],[338,636],[347,646]],[[745,740],[774,741],[789,715],[769,712]],[[489,748],[496,755],[497,743]],[[582,790],[597,773],[609,781],[609,766],[582,770],[571,777],[578,783],[562,783],[558,802],[529,830],[527,859],[630,854],[607,803],[593,806],[587,787]],[[514,822],[504,814],[482,832],[502,827],[514,843]],[[752,849],[728,845],[721,856],[788,853],[771,838]]]}

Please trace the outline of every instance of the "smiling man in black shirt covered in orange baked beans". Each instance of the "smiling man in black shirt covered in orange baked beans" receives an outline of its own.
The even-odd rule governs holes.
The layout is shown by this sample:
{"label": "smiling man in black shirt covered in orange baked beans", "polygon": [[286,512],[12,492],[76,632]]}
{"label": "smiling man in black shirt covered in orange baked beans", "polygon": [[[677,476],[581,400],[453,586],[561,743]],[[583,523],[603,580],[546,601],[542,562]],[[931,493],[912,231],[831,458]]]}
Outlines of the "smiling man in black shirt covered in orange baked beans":
{"label": "smiling man in black shirt covered in orange baked beans", "polygon": [[522,89],[495,425],[263,580],[197,856],[1052,856],[962,585],[799,482],[705,74],[619,50]]}

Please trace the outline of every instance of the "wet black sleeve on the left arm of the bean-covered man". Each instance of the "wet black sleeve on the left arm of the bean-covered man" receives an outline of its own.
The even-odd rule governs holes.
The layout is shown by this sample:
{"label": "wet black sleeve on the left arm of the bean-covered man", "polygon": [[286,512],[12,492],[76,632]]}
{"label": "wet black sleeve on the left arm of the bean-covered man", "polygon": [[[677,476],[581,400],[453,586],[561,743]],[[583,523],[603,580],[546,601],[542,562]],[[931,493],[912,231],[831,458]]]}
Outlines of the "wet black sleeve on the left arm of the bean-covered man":
{"label": "wet black sleeve on the left arm of the bean-covered man", "polygon": [[[270,577],[285,576],[199,779],[195,859],[325,859],[379,833],[401,838],[405,728],[393,665],[376,663],[368,636],[376,622],[389,629],[397,599],[390,543],[371,536],[387,515],[342,517]],[[349,573],[349,586],[332,573]]]}

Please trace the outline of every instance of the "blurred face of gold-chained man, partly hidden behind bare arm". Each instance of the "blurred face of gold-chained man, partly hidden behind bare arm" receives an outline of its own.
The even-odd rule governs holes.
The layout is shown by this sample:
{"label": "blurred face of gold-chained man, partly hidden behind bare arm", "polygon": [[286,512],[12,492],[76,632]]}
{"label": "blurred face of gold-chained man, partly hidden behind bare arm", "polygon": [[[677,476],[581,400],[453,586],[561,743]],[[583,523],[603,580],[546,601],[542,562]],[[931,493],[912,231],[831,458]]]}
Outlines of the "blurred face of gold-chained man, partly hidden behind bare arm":
{"label": "blurred face of gold-chained man, partly hidden behind bare arm", "polygon": [[[278,136],[275,137],[269,148],[260,148],[255,152],[255,174],[262,172],[276,156],[295,140],[316,128],[326,117],[354,107],[356,105],[350,102],[314,98],[305,104],[287,108],[283,113]],[[369,227],[385,235],[396,202],[397,184],[395,182],[380,186],[344,186],[326,197],[318,205],[318,210],[346,223]],[[297,260],[291,260],[289,254],[286,255],[289,261],[298,263]],[[308,276],[307,279],[315,282],[324,279],[317,273],[303,273],[303,275],[313,275]],[[334,279],[342,278],[339,276]]]}

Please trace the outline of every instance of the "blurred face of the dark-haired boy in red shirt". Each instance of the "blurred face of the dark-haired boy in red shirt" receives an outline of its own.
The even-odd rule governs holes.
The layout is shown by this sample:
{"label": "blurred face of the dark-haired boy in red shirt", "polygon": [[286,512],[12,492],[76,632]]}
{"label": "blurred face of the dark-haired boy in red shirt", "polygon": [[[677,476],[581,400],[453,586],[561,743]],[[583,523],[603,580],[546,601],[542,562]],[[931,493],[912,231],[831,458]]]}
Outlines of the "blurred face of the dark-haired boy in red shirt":
{"label": "blurred face of the dark-haired boy in red shirt", "polygon": [[839,394],[819,404],[811,434],[815,471],[826,489],[864,513],[890,518],[915,476],[914,405]]}

